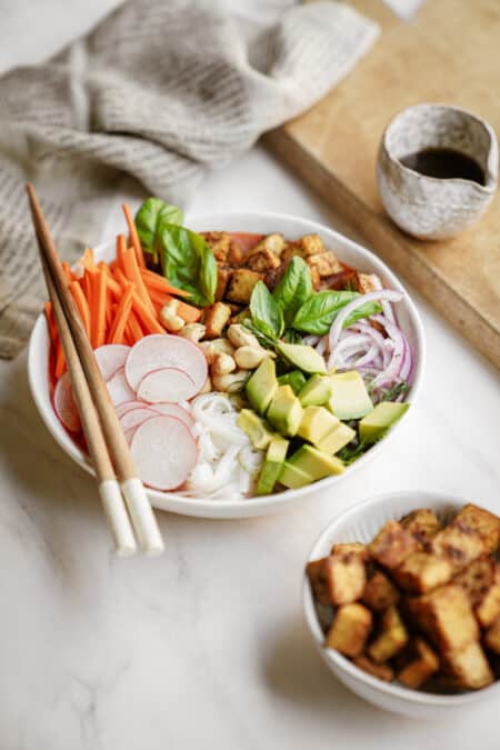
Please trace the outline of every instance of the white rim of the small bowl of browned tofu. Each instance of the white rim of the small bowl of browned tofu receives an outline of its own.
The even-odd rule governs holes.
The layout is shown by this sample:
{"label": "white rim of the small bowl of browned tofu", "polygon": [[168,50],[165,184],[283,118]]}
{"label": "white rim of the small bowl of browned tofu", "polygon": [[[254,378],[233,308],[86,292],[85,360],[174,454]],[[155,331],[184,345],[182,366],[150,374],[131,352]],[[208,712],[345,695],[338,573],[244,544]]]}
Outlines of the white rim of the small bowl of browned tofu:
{"label": "white rim of the small bowl of browned tofu", "polygon": [[[470,499],[462,498],[452,492],[444,492],[442,490],[423,490],[417,488],[412,490],[393,490],[390,492],[380,492],[366,498],[360,502],[357,502],[354,506],[351,506],[350,508],[347,508],[342,512],[334,516],[312,544],[307,558],[307,562],[318,558],[320,554],[319,550],[326,544],[327,540],[330,539],[336,527],[340,523],[343,524],[347,520],[349,520],[349,517],[359,514],[363,511],[369,511],[370,509],[381,504],[390,503],[396,499],[401,500],[404,498],[414,499],[416,503],[419,503],[418,506],[416,504],[416,509],[418,507],[424,508],[429,506],[442,508],[449,508],[450,506],[462,507],[468,502],[471,502]],[[484,507],[488,509],[488,503],[486,503]],[[441,706],[444,708],[453,708],[474,700],[480,700],[481,697],[491,696],[492,692],[500,690],[500,680],[497,680],[492,684],[481,688],[480,690],[469,690],[456,696],[441,696],[439,693],[423,692],[413,690],[412,688],[406,688],[396,682],[383,682],[383,680],[364,672],[347,657],[342,656],[339,651],[324,648],[324,634],[321,631],[318,618],[316,616],[309,579],[306,573],[306,567],[302,573],[301,599],[302,610],[309,633],[323,661],[326,661],[330,668],[334,667],[339,669],[340,671],[347,673],[351,679],[358,682],[363,682],[371,689],[379,690],[380,692],[391,696],[398,700],[403,700],[411,703],[420,703],[422,706],[429,707]]]}

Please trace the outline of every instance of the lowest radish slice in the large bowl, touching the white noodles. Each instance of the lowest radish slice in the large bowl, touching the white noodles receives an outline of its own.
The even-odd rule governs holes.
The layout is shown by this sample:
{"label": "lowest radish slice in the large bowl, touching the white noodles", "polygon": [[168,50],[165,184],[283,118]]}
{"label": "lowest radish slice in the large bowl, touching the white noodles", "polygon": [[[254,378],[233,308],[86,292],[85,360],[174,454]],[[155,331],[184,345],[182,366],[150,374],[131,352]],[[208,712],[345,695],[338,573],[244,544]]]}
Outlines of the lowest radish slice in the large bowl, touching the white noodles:
{"label": "lowest radish slice in the large bowl, touching the white noodles", "polygon": [[132,436],[130,450],[139,477],[156,490],[180,487],[197,462],[191,432],[179,419],[166,414],[142,422]]}

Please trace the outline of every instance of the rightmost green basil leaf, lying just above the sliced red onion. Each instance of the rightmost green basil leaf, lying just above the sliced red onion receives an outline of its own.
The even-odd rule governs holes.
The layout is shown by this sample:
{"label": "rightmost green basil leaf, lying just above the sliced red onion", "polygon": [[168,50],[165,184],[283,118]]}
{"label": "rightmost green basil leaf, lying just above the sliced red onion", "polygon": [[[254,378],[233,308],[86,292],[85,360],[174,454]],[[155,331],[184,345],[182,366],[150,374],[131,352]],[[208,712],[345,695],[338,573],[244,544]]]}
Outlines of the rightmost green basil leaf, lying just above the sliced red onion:
{"label": "rightmost green basil leaf, lying just above the sliced red onion", "polygon": [[[323,336],[330,330],[339,310],[357,297],[359,297],[359,293],[352,291],[318,292],[299,308],[293,318],[292,327],[299,331]],[[380,304],[378,302],[367,302],[348,316],[343,328],[376,312],[380,312]]]}

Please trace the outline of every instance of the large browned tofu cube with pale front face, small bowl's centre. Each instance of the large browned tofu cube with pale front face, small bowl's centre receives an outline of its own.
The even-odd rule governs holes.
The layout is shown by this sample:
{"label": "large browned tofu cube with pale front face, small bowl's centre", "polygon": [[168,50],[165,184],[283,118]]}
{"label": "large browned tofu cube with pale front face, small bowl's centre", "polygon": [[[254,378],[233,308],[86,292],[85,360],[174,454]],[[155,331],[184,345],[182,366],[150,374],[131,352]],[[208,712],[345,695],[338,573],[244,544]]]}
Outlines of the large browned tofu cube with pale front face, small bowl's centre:
{"label": "large browned tofu cube with pale front face, small bowl's centre", "polygon": [[479,628],[469,597],[460,586],[441,589],[408,601],[417,624],[441,649],[459,651],[478,640]]}

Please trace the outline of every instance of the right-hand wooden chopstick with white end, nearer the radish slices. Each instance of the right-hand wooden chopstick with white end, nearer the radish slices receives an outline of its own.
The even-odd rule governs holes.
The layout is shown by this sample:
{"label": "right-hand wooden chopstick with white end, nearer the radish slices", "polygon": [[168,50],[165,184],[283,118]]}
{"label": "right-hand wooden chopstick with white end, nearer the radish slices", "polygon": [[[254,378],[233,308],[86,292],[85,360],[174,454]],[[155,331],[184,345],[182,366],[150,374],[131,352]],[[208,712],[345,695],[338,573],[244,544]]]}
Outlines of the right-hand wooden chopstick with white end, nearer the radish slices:
{"label": "right-hand wooden chopstick with white end, nearer the radish slices", "polygon": [[47,264],[48,272],[53,281],[56,294],[71,332],[93,404],[99,414],[104,440],[121,483],[121,490],[127,501],[132,526],[146,552],[150,554],[161,553],[163,551],[163,540],[154,513],[143,484],[138,477],[123,430],[109,397],[108,388],[102,379],[73,298],[68,291],[61,261],[53,244],[47,221],[32,186],[28,184],[27,190],[40,254]]}

